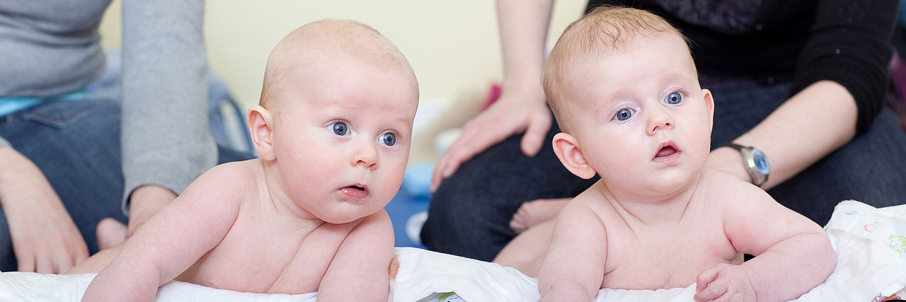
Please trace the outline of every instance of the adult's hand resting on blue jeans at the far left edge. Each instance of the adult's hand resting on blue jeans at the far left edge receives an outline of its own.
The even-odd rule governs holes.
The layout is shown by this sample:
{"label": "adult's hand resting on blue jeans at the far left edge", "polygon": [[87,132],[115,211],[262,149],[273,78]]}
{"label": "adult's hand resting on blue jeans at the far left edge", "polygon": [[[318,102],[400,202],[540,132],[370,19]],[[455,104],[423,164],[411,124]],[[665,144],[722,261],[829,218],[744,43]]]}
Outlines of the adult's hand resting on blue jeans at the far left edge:
{"label": "adult's hand resting on blue jeans at the far left edge", "polygon": [[19,271],[63,273],[88,258],[88,246],[43,173],[10,146],[0,147],[0,203]]}

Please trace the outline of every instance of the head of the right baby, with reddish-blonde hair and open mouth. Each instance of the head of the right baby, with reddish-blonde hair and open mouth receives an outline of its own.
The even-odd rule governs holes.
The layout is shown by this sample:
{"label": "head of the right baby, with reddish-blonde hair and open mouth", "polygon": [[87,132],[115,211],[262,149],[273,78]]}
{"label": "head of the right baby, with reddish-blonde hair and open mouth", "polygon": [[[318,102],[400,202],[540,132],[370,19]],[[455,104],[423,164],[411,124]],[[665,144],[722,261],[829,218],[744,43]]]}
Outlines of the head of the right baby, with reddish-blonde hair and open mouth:
{"label": "head of the right baby, with reddish-blonde hair and open mouth", "polygon": [[554,151],[573,174],[639,193],[699,175],[714,102],[685,37],[660,16],[614,6],[584,15],[557,41],[543,82],[564,131]]}

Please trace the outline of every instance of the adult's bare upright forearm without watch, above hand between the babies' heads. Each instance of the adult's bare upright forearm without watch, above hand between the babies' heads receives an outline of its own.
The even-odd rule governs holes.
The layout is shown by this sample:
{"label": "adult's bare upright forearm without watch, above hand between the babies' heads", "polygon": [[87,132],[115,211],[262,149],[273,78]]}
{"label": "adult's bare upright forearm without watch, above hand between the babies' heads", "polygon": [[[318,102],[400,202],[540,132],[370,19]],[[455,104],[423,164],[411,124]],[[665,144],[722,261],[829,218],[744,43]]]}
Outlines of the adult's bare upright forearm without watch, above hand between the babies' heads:
{"label": "adult's bare upright forearm without watch, above hand between the babies' heads", "polygon": [[553,0],[497,0],[497,23],[504,61],[504,88],[542,95],[541,72]]}

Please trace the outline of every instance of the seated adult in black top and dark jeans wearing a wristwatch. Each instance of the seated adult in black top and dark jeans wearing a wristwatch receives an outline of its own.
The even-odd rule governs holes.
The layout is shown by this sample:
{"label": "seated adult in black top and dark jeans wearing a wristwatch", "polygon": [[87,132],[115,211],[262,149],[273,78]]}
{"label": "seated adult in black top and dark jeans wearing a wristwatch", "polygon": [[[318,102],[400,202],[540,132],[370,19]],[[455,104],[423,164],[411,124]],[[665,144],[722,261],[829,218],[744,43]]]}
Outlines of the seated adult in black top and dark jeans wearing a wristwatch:
{"label": "seated adult in black top and dark jeans wearing a wristwatch", "polygon": [[[551,3],[497,1],[503,94],[439,160],[421,232],[431,250],[492,260],[596,180],[571,175],[551,147],[559,129],[540,82]],[[883,106],[897,1],[699,3],[588,7],[650,10],[689,37],[716,99],[708,165],[822,225],[843,200],[903,203],[906,134]]]}

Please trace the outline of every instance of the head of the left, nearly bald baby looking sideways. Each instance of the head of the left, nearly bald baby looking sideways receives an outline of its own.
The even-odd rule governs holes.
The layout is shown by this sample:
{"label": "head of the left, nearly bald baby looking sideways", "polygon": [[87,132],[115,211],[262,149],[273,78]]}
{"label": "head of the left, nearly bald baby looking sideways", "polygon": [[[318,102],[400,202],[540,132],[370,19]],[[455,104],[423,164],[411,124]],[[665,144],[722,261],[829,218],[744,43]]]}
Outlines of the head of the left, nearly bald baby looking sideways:
{"label": "head of the left, nearly bald baby looking sideways", "polygon": [[400,189],[418,100],[409,62],[371,27],[322,20],[289,33],[248,114],[271,193],[325,222],[381,210]]}

